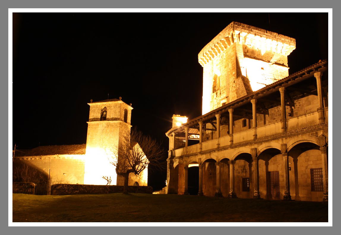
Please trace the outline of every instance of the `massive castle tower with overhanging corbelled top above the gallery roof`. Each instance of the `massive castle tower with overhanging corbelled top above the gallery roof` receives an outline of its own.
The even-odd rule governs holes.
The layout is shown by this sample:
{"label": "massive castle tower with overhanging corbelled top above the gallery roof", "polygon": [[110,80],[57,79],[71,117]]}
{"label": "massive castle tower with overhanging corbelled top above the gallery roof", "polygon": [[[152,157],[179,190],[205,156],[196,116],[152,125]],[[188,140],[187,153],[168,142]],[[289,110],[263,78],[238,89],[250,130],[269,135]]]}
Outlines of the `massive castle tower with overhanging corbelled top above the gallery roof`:
{"label": "massive castle tower with overhanging corbelled top above the gallery roof", "polygon": [[202,114],[288,76],[296,41],[239,22],[230,23],[198,54],[203,67]]}

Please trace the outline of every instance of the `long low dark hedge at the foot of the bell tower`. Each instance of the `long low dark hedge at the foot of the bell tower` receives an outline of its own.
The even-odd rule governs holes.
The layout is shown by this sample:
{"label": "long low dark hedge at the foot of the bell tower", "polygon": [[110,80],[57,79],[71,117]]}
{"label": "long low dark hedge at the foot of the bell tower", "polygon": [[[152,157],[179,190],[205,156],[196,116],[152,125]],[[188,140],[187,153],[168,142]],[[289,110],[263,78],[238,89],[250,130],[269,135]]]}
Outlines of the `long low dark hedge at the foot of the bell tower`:
{"label": "long low dark hedge at the foot of the bell tower", "polygon": [[[90,184],[53,184],[51,195],[74,194],[108,194],[122,193],[123,186],[119,185],[90,185]],[[128,186],[128,193],[153,193],[151,186]]]}

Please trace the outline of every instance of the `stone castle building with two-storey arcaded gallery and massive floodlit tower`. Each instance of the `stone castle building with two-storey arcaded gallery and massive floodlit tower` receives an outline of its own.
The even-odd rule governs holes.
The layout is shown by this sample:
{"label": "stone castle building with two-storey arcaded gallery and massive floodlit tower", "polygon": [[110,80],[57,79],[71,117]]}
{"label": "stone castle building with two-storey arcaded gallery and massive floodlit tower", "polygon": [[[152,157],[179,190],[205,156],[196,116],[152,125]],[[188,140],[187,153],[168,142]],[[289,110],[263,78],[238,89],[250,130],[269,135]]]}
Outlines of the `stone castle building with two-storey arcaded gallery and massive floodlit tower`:
{"label": "stone castle building with two-storey arcaded gallery and massive floodlit tower", "polygon": [[198,195],[328,201],[328,61],[288,76],[295,48],[232,22],[202,49],[202,115],[166,132],[168,194],[196,172]]}

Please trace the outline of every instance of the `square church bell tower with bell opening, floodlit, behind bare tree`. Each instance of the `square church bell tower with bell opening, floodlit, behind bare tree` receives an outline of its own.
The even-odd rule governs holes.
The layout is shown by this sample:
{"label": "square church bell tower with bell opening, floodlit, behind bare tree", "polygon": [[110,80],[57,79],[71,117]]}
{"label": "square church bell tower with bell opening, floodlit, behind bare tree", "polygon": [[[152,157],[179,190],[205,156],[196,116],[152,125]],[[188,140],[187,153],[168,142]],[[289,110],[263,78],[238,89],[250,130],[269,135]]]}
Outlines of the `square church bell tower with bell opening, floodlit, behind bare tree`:
{"label": "square church bell tower with bell opening, floodlit, behind bare tree", "polygon": [[123,135],[129,131],[130,105],[121,98],[88,103],[90,114],[86,142],[86,160],[84,184],[106,184],[102,176],[112,179],[117,184],[117,175],[108,157],[112,156],[115,146],[122,141]]}

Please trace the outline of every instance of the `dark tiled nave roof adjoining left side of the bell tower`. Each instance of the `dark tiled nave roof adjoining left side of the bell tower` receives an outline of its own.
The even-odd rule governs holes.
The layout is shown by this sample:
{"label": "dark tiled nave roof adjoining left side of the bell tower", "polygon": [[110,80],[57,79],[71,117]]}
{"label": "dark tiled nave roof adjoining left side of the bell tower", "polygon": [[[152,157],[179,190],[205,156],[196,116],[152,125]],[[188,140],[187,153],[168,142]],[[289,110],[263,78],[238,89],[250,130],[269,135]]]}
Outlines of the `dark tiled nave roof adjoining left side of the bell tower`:
{"label": "dark tiled nave roof adjoining left side of the bell tower", "polygon": [[45,155],[82,155],[86,144],[39,146],[33,149],[17,149],[15,157]]}

